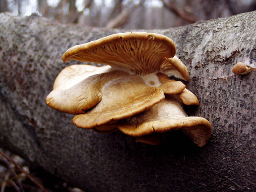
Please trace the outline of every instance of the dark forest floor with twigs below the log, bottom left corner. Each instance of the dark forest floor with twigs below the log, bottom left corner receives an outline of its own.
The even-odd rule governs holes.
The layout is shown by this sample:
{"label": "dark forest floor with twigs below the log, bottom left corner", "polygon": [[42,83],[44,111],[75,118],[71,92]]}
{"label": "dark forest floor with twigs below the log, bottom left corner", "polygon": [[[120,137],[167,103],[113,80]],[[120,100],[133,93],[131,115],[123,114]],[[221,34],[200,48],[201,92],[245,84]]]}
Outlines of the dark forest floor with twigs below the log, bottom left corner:
{"label": "dark forest floor with twigs below the log, bottom left corner", "polygon": [[0,148],[0,192],[84,191]]}

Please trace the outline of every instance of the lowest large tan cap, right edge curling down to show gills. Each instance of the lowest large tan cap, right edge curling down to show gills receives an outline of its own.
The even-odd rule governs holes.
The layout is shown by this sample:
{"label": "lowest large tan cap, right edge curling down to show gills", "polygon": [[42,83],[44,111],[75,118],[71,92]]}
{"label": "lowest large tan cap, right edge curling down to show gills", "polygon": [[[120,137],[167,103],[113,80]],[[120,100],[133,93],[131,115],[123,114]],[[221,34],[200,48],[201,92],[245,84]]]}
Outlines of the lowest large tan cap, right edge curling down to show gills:
{"label": "lowest large tan cap, right edge curling down to show gills", "polygon": [[187,117],[177,99],[170,96],[152,108],[118,122],[116,127],[134,137],[182,129],[200,147],[207,143],[212,132],[210,122],[201,117]]}

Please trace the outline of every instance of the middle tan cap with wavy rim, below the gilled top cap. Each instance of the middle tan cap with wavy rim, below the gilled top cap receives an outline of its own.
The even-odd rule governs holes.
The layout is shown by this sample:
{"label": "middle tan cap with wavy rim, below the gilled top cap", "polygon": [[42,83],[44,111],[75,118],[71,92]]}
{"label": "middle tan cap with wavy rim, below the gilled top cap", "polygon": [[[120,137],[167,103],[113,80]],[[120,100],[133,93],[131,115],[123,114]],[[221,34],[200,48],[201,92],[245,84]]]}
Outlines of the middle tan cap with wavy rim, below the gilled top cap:
{"label": "middle tan cap with wavy rim, below the gilled top cap", "polygon": [[165,98],[159,87],[144,84],[138,75],[115,79],[101,89],[102,100],[90,111],[73,118],[80,128],[89,129],[131,117]]}

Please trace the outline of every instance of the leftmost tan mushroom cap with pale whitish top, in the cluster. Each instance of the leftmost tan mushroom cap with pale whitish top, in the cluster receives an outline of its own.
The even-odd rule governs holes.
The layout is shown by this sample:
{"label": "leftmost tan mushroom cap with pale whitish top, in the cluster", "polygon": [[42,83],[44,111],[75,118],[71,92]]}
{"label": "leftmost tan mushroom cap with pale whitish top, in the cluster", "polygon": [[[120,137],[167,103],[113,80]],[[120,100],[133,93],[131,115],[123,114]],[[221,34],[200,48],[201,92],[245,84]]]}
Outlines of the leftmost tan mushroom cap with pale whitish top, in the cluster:
{"label": "leftmost tan mushroom cap with pale whitish top, in the cluster", "polygon": [[[93,67],[102,69],[102,67]],[[75,69],[75,70],[74,70]],[[97,105],[102,100],[101,88],[113,79],[129,75],[124,71],[109,71],[95,74],[102,70],[93,71],[88,77],[91,65],[75,65],[65,68],[57,77],[53,91],[46,97],[46,103],[51,108],[71,114],[84,113],[84,111]],[[69,71],[80,71],[81,75],[68,75]],[[107,69],[108,70],[108,69]],[[84,73],[81,73],[84,71]],[[83,77],[84,74],[84,77]],[[88,77],[88,78],[86,78]],[[84,79],[85,78],[85,79]],[[63,80],[63,81],[62,81]]]}

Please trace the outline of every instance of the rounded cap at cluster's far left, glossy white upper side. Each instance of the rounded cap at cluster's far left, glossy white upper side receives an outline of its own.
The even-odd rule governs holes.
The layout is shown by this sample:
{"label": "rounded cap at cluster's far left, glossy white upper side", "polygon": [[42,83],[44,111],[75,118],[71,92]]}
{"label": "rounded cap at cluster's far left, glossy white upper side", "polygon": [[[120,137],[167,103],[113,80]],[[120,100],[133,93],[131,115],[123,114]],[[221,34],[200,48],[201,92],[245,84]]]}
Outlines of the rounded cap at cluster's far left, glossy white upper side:
{"label": "rounded cap at cluster's far left, glossy white upper side", "polygon": [[[98,92],[93,92],[96,90],[96,87],[90,87],[93,81],[95,83],[95,77],[94,79],[90,77],[83,83],[84,79],[107,71],[111,71],[109,65],[102,67],[70,65],[65,67],[55,79],[53,91],[46,97],[46,104],[53,109],[66,113],[84,113],[84,110],[93,107],[101,100]],[[119,77],[119,74],[117,75]],[[83,85],[86,89],[84,89]],[[85,97],[87,94],[88,97]]]}

